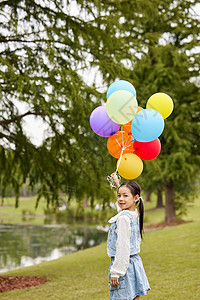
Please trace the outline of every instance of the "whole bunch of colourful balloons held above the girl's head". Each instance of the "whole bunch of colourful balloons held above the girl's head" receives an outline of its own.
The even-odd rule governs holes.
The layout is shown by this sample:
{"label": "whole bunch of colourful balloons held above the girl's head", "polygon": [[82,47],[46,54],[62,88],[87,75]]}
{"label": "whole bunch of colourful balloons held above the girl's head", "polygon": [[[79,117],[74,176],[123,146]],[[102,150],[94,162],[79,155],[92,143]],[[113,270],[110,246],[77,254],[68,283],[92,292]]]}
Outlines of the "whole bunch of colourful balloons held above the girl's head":
{"label": "whole bunch of colourful balloons held above the girl's head", "polygon": [[143,109],[138,106],[136,90],[130,82],[118,80],[109,86],[106,105],[93,110],[90,126],[99,136],[108,137],[107,149],[118,158],[116,172],[120,176],[137,178],[143,170],[142,160],[158,156],[161,150],[158,137],[173,107],[170,96],[156,93]]}

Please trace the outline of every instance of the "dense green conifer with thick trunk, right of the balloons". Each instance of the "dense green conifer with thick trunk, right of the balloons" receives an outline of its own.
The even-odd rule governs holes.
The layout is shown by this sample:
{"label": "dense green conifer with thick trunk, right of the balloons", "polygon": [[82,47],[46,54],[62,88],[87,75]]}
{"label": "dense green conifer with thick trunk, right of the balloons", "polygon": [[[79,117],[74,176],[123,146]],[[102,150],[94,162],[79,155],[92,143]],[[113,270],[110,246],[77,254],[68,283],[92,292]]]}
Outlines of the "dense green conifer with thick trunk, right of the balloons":
{"label": "dense green conifer with thick trunk, right of the balloons", "polygon": [[194,196],[199,174],[200,57],[195,3],[159,2],[156,17],[146,23],[146,48],[131,73],[144,106],[156,92],[169,94],[175,103],[174,112],[165,122],[157,160],[164,183],[166,222],[176,220],[176,209]]}

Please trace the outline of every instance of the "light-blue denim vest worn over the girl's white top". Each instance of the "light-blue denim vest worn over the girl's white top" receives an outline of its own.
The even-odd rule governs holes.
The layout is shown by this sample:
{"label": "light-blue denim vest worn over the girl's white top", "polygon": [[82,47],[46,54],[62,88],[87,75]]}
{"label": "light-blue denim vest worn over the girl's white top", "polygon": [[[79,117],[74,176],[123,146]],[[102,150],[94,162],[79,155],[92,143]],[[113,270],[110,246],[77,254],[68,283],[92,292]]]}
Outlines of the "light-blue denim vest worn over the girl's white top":
{"label": "light-blue denim vest worn over the girl's white top", "polygon": [[[140,225],[139,225],[139,216],[134,220],[131,214],[128,211],[122,211],[121,215],[126,215],[130,218],[130,225],[131,225],[131,237],[130,237],[130,255],[134,255],[140,252]],[[107,239],[107,254],[108,256],[115,256],[116,255],[116,242],[117,242],[117,220],[113,222],[110,226],[108,232],[108,239]]]}

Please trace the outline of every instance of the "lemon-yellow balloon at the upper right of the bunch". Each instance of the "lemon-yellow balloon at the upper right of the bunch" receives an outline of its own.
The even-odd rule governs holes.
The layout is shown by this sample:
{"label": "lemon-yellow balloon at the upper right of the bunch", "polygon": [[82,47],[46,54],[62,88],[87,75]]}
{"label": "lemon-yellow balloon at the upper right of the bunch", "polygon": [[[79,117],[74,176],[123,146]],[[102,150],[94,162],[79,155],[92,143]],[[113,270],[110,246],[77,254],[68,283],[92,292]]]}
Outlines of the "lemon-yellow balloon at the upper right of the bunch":
{"label": "lemon-yellow balloon at the upper right of the bunch", "polygon": [[171,115],[174,103],[169,95],[156,93],[148,99],[146,107],[157,110],[163,116],[163,119],[166,119]]}

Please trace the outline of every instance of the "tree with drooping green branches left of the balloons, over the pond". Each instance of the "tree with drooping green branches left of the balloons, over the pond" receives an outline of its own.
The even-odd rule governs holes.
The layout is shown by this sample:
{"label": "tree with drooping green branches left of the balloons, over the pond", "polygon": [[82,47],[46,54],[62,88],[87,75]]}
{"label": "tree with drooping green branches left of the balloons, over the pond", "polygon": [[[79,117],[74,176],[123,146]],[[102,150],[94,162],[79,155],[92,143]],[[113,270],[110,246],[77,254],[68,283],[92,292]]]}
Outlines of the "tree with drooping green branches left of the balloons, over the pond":
{"label": "tree with drooping green branches left of the balloons, over the pond", "polygon": [[[58,201],[60,189],[69,197],[111,195],[107,170],[100,170],[112,159],[101,155],[105,141],[88,121],[104,94],[87,83],[84,71],[119,74],[123,49],[115,22],[100,11],[93,1],[77,1],[74,8],[62,0],[0,3],[0,182],[11,184],[17,198],[26,180],[32,187],[40,183],[38,200],[45,196],[48,203]],[[48,125],[40,147],[24,131],[28,115]]]}

